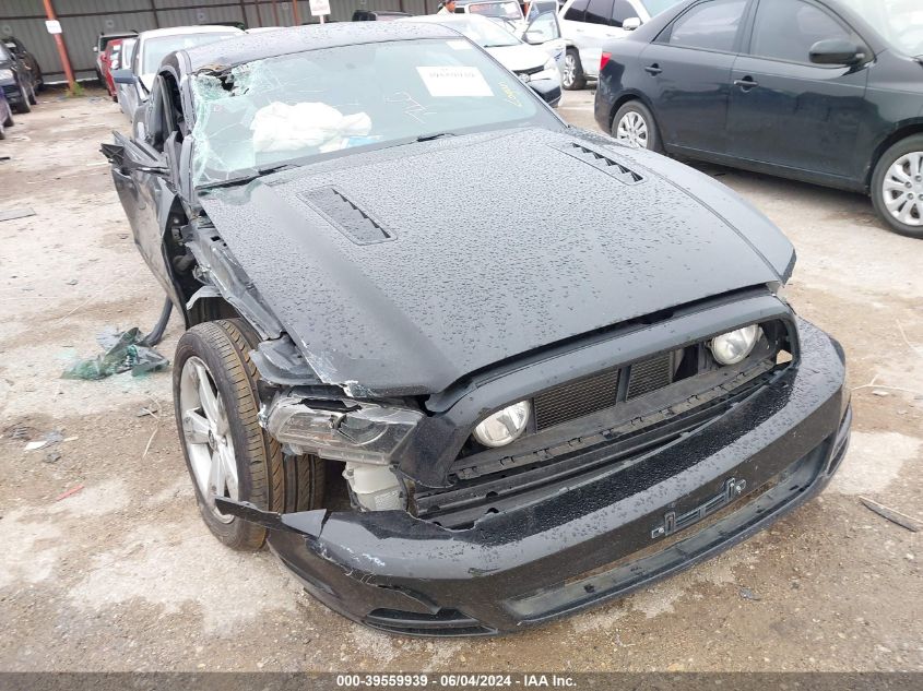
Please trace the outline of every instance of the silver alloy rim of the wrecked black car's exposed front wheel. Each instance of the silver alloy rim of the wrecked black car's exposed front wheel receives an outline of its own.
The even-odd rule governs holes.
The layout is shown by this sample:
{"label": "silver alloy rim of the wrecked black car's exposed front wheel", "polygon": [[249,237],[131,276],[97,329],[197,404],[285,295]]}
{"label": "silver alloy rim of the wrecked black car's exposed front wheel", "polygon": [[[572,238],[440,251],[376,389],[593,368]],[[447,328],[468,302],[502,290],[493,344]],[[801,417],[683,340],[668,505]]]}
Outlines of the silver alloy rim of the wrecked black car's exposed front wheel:
{"label": "silver alloy rim of the wrecked black car's exposed front wheel", "polygon": [[239,499],[237,458],[227,408],[203,360],[190,357],[179,381],[182,437],[202,498],[218,521],[230,523],[215,507],[215,497]]}

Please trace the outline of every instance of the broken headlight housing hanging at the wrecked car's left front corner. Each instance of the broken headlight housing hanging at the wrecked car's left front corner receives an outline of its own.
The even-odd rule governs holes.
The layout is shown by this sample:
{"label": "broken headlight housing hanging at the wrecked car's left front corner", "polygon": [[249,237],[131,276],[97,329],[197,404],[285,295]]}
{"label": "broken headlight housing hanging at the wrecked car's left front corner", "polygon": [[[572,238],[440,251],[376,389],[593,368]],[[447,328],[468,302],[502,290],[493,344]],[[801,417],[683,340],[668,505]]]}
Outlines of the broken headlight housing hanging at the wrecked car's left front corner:
{"label": "broken headlight housing hanging at the wrecked car's left front corner", "polygon": [[267,430],[299,453],[388,465],[423,418],[422,413],[410,408],[355,401],[339,403],[338,409],[323,409],[318,403],[310,405],[303,398],[280,398],[265,415]]}

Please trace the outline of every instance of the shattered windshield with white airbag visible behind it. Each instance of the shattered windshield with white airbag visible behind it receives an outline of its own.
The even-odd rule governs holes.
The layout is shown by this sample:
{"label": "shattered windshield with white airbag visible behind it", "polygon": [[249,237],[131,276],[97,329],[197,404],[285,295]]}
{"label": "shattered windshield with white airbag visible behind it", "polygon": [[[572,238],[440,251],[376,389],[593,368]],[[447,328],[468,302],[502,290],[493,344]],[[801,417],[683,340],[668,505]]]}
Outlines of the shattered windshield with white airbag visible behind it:
{"label": "shattered windshield with white airbag visible behind it", "polygon": [[193,183],[417,138],[555,126],[522,83],[470,41],[310,50],[193,78]]}

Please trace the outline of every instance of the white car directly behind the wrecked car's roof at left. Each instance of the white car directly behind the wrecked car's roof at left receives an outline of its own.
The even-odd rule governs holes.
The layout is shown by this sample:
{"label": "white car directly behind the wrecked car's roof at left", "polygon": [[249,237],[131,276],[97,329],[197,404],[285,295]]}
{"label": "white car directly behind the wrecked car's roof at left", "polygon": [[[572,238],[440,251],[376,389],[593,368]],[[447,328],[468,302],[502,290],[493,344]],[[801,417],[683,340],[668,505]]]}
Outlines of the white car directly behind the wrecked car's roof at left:
{"label": "white car directly behind the wrecked car's roof at left", "polygon": [[[130,65],[113,72],[122,112],[134,118],[138,106],[147,100],[161,61],[174,50],[194,48],[242,33],[233,26],[174,26],[142,32],[138,35]],[[119,88],[121,85],[126,88]]]}

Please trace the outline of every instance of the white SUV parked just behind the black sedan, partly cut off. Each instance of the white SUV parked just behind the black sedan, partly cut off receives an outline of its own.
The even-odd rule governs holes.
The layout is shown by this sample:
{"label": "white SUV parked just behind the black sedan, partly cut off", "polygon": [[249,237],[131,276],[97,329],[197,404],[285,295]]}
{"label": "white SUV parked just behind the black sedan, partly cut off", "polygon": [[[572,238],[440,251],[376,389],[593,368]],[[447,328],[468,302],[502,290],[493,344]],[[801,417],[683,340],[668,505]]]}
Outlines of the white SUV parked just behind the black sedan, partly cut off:
{"label": "white SUV parked just behind the black sedan, partly cut off", "polygon": [[583,88],[600,76],[603,44],[620,38],[679,0],[567,0],[558,19],[567,55],[561,82]]}

